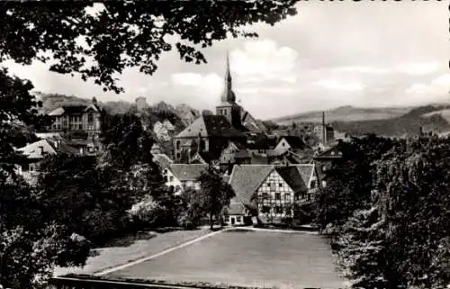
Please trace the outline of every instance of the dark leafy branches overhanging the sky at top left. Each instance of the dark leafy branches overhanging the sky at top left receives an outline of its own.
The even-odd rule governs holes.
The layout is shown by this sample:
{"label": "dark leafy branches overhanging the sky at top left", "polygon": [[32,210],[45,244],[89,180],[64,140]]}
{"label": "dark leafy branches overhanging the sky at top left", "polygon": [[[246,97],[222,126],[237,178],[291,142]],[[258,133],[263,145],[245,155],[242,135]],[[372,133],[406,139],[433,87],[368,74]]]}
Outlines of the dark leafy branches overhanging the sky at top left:
{"label": "dark leafy branches overhanging the sky at top left", "polygon": [[93,8],[89,1],[2,3],[0,59],[26,65],[52,59],[50,70],[94,78],[103,90],[120,93],[123,88],[114,76],[124,68],[139,67],[151,75],[161,54],[174,44],[181,59],[205,63],[201,49],[229,35],[257,36],[244,27],[274,25],[296,14],[297,1],[104,2],[95,14],[86,13]]}

